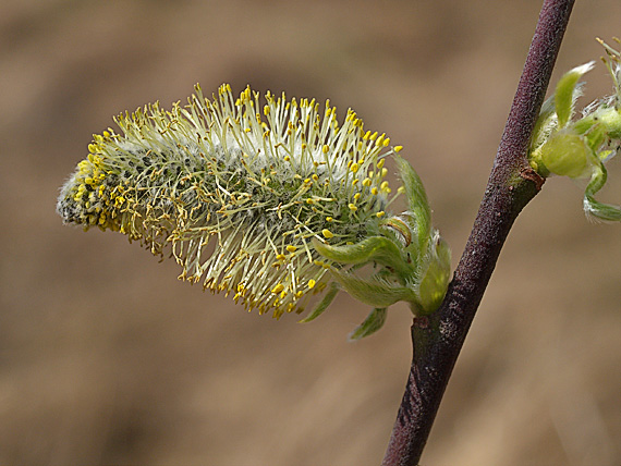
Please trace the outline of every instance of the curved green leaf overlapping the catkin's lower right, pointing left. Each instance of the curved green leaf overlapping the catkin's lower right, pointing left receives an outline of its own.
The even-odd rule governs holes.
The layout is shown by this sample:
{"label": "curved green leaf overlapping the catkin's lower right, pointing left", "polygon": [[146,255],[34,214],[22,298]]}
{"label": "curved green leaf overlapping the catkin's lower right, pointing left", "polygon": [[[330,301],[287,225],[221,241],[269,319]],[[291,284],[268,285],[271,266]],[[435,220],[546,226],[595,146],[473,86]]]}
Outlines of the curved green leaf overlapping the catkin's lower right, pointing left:
{"label": "curved green leaf overlapping the catkin's lower right, pointing left", "polygon": [[360,243],[344,246],[330,246],[314,238],[313,247],[321,256],[334,262],[360,265],[375,261],[390,267],[401,275],[410,275],[413,272],[413,268],[405,262],[394,242],[383,236],[372,236]]}

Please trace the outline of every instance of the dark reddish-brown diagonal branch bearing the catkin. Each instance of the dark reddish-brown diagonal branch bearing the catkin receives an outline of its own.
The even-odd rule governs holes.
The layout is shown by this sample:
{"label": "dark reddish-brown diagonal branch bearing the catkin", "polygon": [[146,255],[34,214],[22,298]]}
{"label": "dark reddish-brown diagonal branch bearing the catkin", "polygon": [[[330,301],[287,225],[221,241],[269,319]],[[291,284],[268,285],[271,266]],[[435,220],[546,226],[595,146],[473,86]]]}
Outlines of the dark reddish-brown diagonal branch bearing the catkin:
{"label": "dark reddish-brown diagonal branch bearing the catkin", "polygon": [[545,0],[472,233],[440,308],[412,326],[414,355],[383,465],[417,464],[458,355],[513,221],[544,182],[531,134],[574,0]]}

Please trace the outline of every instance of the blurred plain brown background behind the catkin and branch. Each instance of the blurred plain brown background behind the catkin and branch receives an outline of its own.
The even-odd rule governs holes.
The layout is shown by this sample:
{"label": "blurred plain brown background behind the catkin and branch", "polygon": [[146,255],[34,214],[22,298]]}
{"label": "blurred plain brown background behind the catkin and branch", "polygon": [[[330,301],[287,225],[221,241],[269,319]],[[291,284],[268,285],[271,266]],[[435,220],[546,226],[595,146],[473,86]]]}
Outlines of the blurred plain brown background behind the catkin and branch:
{"label": "blurred plain brown background behind the catkin and branch", "polygon": [[[0,7],[0,463],[374,465],[411,357],[409,310],[247,314],[119,234],[61,224],[60,185],[112,115],[241,91],[330,98],[426,183],[456,265],[539,0],[61,1]],[[561,72],[621,36],[577,1]],[[598,65],[583,102],[609,93]],[[621,200],[609,164],[602,200]],[[551,179],[508,240],[423,457],[427,465],[621,463],[621,241]]]}

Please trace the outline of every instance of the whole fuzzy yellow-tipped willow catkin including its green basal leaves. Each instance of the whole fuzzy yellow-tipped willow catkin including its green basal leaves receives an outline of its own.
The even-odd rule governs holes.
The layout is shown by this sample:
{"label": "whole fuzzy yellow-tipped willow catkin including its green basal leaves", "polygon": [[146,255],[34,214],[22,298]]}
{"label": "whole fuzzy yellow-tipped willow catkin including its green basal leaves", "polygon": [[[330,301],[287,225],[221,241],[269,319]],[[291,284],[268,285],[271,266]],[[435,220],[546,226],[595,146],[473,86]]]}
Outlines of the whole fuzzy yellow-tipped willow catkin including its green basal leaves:
{"label": "whole fuzzy yellow-tipped willow catkin including its green basal leaves", "polygon": [[[356,330],[377,330],[398,301],[434,311],[448,285],[450,255],[430,228],[421,180],[385,134],[355,112],[230,86],[212,100],[196,87],[186,106],[157,103],[115,119],[62,187],[58,212],[85,230],[119,231],[156,255],[170,250],[181,279],[233,294],[260,314],[302,312],[339,290],[377,309]],[[385,159],[395,156],[403,187],[392,194]],[[391,214],[398,193],[409,211]],[[375,265],[372,278],[358,269]]]}

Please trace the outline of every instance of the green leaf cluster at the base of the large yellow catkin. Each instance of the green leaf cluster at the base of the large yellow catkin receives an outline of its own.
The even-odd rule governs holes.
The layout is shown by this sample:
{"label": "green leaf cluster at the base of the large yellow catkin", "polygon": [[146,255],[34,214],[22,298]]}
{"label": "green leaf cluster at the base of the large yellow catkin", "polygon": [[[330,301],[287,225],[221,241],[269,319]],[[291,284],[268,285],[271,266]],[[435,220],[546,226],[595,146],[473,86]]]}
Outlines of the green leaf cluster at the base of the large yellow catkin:
{"label": "green leaf cluster at the base of the large yellow catkin", "polygon": [[[431,211],[418,174],[403,158],[395,156],[395,161],[407,210],[382,220],[376,235],[355,244],[331,246],[314,240],[315,249],[341,267],[328,266],[336,282],[304,322],[317,318],[339,289],[374,307],[350,335],[352,340],[379,330],[387,308],[394,303],[406,302],[415,316],[422,316],[434,312],[442,302],[450,279],[450,249],[431,226]],[[372,277],[357,273],[369,263],[378,269]]]}

